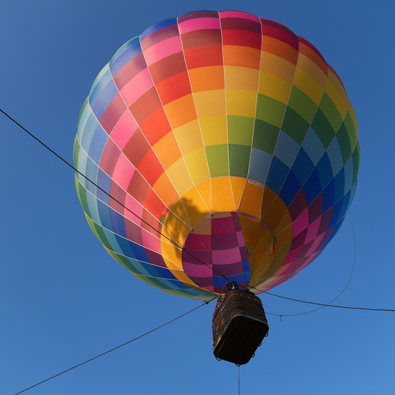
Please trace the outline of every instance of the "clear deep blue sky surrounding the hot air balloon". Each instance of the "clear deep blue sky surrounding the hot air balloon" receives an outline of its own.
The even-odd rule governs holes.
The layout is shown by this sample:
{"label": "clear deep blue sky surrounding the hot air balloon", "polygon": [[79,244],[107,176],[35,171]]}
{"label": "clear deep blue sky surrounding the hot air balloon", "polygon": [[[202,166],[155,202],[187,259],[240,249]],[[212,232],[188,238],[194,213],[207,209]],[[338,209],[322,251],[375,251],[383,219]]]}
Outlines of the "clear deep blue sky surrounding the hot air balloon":
{"label": "clear deep blue sky surrounding the hot air balloon", "polygon": [[[395,308],[392,1],[4,1],[0,107],[68,161],[80,107],[119,47],[191,10],[240,9],[306,38],[356,110],[361,167],[351,219],[356,264],[334,302]],[[135,279],[91,233],[73,170],[0,116],[0,394],[22,389],[199,306]],[[354,261],[346,218],[326,251],[272,292],[326,303]],[[269,337],[240,368],[241,394],[393,394],[395,313],[262,296]],[[237,394],[212,354],[213,304],[26,394]],[[278,316],[283,315],[282,319]]]}

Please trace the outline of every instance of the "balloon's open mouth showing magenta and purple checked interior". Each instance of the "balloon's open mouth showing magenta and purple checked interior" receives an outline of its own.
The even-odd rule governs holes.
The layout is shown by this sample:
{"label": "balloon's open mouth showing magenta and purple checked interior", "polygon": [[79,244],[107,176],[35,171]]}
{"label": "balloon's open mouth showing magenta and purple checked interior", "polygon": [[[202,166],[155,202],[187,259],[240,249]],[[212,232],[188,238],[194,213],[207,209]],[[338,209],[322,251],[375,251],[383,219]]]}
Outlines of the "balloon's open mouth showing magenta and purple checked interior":
{"label": "balloon's open mouth showing magenta and purple checked interior", "polygon": [[223,211],[200,220],[186,237],[182,265],[197,286],[211,292],[222,292],[228,281],[247,287],[250,268],[239,214]]}

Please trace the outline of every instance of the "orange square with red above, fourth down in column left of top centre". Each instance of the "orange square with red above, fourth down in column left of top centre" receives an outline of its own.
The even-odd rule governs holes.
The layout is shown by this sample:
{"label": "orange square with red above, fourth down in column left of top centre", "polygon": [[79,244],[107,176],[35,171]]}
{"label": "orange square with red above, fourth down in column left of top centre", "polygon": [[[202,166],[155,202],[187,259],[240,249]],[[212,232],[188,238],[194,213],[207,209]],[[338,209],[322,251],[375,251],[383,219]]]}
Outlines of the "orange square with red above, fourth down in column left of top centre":
{"label": "orange square with red above, fourth down in column left of top centre", "polygon": [[225,88],[224,67],[208,66],[188,70],[193,92]]}

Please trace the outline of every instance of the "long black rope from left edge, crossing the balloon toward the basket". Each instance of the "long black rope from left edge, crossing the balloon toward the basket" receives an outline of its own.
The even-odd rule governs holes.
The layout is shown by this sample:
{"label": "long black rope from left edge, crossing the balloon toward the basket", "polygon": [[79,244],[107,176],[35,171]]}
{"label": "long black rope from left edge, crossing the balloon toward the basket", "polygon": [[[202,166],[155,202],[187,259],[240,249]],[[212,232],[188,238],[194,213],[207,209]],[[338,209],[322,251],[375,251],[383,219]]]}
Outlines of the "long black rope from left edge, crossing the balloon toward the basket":
{"label": "long black rope from left edge, crossing the balloon toward the basket", "polygon": [[181,249],[182,252],[184,252],[184,254],[187,254],[189,256],[191,256],[192,258],[195,258],[197,261],[199,261],[200,263],[202,263],[203,265],[209,267],[211,270],[213,270],[213,272],[215,272],[216,274],[219,274],[221,277],[228,279],[227,276],[225,276],[225,274],[218,272],[217,270],[215,270],[213,267],[211,267],[210,265],[207,265],[207,263],[203,262],[202,260],[200,260],[199,258],[193,256],[190,252],[186,251],[186,249],[184,249],[183,247],[181,247],[180,245],[178,245],[174,240],[172,240],[171,238],[169,238],[168,236],[164,235],[161,233],[161,231],[159,231],[158,229],[156,229],[155,227],[153,227],[152,225],[150,225],[146,220],[143,220],[143,218],[141,218],[140,216],[138,216],[136,213],[134,213],[131,209],[129,209],[128,207],[125,206],[125,204],[121,203],[119,200],[117,200],[116,198],[114,198],[112,195],[110,195],[107,191],[105,191],[103,188],[101,188],[100,186],[98,186],[98,184],[96,184],[96,182],[93,182],[91,179],[89,179],[89,177],[87,177],[85,174],[82,174],[80,172],[80,170],[78,170],[76,167],[74,167],[71,163],[69,163],[69,161],[67,161],[66,159],[62,158],[57,152],[55,152],[52,148],[50,148],[49,146],[47,146],[43,141],[41,141],[40,139],[38,139],[37,137],[35,137],[35,135],[31,132],[29,132],[26,128],[24,128],[24,126],[22,126],[19,122],[17,122],[15,119],[12,118],[12,116],[8,115],[3,109],[0,108],[0,112],[2,112],[8,119],[10,119],[10,121],[12,121],[13,123],[15,123],[16,125],[19,126],[19,128],[21,128],[22,130],[24,130],[30,137],[33,137],[33,139],[35,139],[35,141],[37,141],[38,143],[40,143],[42,146],[44,146],[44,148],[46,148],[47,150],[49,150],[50,152],[53,153],[53,155],[55,155],[55,157],[57,157],[58,159],[60,159],[62,162],[64,162],[64,164],[67,164],[67,166],[69,166],[70,168],[72,168],[73,170],[76,171],[76,173],[78,173],[79,175],[82,175],[82,177],[84,177],[85,179],[87,179],[87,181],[89,181],[91,184],[93,184],[94,186],[96,186],[96,188],[99,188],[100,191],[102,191],[103,193],[105,193],[109,198],[111,198],[112,200],[114,200],[114,202],[120,204],[124,209],[128,210],[130,213],[132,213],[136,218],[138,218],[139,220],[141,220],[141,222],[143,222],[144,224],[146,224],[148,227],[150,227],[151,229],[153,229],[154,231],[156,231],[157,233],[159,233],[160,236],[162,236],[163,238],[166,238],[166,240],[170,241],[170,243],[173,243],[173,245],[175,245],[177,248]]}

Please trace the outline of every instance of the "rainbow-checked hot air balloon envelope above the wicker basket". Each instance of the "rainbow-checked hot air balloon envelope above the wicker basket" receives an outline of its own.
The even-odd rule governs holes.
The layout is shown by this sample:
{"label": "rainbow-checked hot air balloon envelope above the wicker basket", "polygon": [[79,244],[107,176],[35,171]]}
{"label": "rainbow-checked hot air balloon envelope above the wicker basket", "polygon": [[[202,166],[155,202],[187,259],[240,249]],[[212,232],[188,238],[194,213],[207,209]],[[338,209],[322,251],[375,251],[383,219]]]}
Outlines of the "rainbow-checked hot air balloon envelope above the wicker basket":
{"label": "rainbow-checked hot air balloon envelope above the wicker basket", "polygon": [[168,19],[94,81],[74,146],[91,229],[134,275],[264,292],[324,249],[359,166],[353,107],[315,47],[240,11]]}

